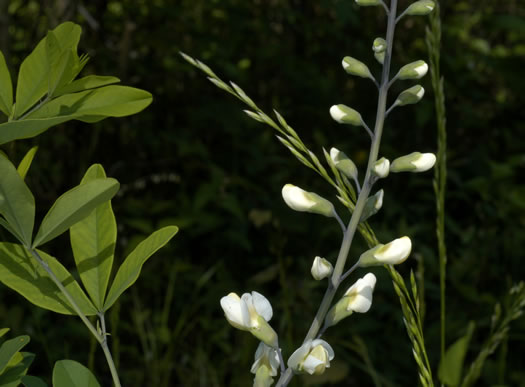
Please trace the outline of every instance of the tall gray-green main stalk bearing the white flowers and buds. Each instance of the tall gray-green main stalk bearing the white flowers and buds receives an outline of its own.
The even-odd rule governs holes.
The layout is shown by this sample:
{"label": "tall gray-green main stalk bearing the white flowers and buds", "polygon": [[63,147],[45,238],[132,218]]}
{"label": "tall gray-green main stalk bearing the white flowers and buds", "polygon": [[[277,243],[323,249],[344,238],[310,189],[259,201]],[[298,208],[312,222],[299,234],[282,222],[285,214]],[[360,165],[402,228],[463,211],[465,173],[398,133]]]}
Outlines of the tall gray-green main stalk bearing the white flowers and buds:
{"label": "tall gray-green main stalk bearing the white flowers and buds", "polygon": [[[365,180],[363,182],[363,187],[359,193],[357,203],[352,213],[352,217],[346,229],[346,232],[343,236],[343,241],[341,243],[341,248],[337,257],[335,264],[334,272],[332,278],[328,284],[328,288],[324,294],[321,305],[317,311],[317,314],[310,326],[308,334],[306,335],[303,342],[307,340],[313,340],[317,337],[319,330],[322,327],[323,321],[328,313],[332,301],[334,299],[335,293],[339,285],[341,284],[341,276],[348,258],[348,253],[354,239],[355,231],[359,225],[359,220],[361,219],[361,214],[365,207],[366,199],[370,195],[370,190],[372,189],[372,168],[377,161],[377,156],[379,154],[379,146],[381,144],[381,136],[383,134],[383,124],[385,121],[385,111],[386,111],[386,99],[388,95],[389,87],[389,76],[390,76],[390,61],[392,57],[392,43],[394,41],[394,30],[396,26],[396,9],[397,9],[397,0],[392,0],[390,3],[390,10],[388,13],[388,24],[386,32],[386,41],[387,41],[387,51],[385,54],[385,60],[383,64],[383,73],[381,76],[381,86],[379,88],[379,97],[377,102],[377,113],[376,113],[376,123],[374,128],[374,135],[372,138],[372,144],[370,146],[370,155],[368,157],[368,166],[365,175]],[[281,374],[276,387],[287,386],[288,383],[292,380],[293,372],[290,367]]]}

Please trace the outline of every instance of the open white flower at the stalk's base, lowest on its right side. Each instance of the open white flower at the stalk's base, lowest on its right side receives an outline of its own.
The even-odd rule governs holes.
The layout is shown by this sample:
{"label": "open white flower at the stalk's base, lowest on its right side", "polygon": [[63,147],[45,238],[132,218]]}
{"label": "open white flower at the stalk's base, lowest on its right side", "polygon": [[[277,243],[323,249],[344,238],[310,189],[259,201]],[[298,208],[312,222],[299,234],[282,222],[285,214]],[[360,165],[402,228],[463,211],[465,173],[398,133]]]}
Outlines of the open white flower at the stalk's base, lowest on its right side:
{"label": "open white flower at the stalk's base, lowest on its right side", "polygon": [[334,350],[326,341],[308,340],[290,356],[288,367],[296,373],[321,375],[330,367],[333,358]]}

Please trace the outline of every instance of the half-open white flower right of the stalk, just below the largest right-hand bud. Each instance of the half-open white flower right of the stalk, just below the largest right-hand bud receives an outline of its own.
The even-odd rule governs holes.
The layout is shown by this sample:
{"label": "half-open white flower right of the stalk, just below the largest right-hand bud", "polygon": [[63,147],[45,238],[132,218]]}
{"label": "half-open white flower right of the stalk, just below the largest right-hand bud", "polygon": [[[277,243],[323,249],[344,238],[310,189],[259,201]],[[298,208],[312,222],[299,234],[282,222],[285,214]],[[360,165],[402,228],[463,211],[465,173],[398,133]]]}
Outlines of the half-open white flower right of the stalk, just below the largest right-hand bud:
{"label": "half-open white flower right of the stalk, just below the largest right-hand bud", "polygon": [[372,306],[372,294],[376,286],[376,276],[372,273],[366,274],[358,279],[348,288],[344,296],[328,311],[325,319],[325,327],[337,324],[353,312],[366,313]]}

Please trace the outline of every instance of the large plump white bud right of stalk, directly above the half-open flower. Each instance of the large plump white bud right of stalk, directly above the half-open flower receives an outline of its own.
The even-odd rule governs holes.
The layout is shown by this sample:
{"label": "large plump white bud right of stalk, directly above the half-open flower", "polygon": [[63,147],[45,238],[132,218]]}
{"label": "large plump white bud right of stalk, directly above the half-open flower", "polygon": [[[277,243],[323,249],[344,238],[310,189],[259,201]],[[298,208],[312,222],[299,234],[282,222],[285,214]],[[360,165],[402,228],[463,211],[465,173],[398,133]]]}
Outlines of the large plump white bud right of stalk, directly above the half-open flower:
{"label": "large plump white bud right of stalk, directly above the half-open flower", "polygon": [[394,239],[386,245],[378,244],[361,254],[359,266],[397,265],[408,258],[411,250],[412,241],[409,237]]}

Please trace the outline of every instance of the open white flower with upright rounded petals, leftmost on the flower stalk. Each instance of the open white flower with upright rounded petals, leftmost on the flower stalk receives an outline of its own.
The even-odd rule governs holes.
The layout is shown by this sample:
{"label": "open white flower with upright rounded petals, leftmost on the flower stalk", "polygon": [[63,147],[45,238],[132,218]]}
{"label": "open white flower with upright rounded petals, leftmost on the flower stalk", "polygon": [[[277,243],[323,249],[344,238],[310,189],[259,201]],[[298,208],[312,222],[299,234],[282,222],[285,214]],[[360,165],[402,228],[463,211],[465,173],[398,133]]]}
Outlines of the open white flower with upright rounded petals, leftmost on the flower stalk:
{"label": "open white flower with upright rounded petals, leftmost on the flower stalk", "polygon": [[268,324],[273,315],[272,306],[262,294],[254,291],[239,297],[230,293],[221,298],[221,307],[231,326],[249,331],[266,345],[277,348],[277,333]]}

